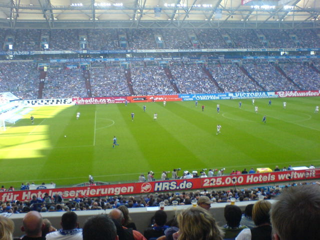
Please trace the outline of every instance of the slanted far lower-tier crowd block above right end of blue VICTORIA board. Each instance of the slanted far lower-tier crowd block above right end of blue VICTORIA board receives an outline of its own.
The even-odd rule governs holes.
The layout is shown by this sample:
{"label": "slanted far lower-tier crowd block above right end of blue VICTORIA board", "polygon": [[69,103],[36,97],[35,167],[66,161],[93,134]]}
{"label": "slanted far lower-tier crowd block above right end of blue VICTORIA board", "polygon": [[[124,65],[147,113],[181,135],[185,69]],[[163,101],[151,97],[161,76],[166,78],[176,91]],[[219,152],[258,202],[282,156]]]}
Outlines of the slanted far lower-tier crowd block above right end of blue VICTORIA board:
{"label": "slanted far lower-tier crowd block above right end of blue VICTORIA board", "polygon": [[298,90],[271,63],[245,63],[248,73],[267,91]]}

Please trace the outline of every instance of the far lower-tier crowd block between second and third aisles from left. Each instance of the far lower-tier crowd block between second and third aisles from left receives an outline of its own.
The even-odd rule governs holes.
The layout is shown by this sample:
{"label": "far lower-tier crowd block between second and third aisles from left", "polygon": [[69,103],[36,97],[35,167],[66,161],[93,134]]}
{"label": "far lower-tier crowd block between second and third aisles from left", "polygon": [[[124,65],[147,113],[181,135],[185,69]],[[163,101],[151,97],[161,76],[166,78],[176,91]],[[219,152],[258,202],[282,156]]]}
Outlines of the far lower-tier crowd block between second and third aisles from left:
{"label": "far lower-tier crowd block between second and third aisles from left", "polygon": [[119,66],[90,68],[92,96],[126,96],[129,89]]}

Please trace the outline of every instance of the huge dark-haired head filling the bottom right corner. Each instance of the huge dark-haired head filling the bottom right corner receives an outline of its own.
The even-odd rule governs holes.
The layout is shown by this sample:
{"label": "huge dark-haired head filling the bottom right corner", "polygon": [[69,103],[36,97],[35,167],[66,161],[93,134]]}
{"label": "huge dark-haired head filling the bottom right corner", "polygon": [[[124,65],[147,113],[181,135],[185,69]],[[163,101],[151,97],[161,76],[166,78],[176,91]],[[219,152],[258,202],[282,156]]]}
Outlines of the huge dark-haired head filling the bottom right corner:
{"label": "huge dark-haired head filling the bottom right corner", "polygon": [[316,240],[320,236],[320,186],[285,189],[271,207],[274,240]]}

